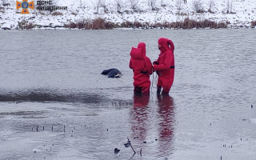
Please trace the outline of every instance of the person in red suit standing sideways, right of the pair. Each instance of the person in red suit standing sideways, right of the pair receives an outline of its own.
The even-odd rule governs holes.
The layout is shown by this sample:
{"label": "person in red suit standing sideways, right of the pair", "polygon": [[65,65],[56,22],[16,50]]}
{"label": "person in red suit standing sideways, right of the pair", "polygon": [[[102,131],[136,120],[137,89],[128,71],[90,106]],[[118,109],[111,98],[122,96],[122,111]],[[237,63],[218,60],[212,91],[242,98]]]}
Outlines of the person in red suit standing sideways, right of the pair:
{"label": "person in red suit standing sideways, right of the pair", "polygon": [[162,90],[162,94],[169,94],[174,83],[174,43],[168,38],[159,38],[158,49],[158,60],[153,63],[153,70],[158,74],[157,93]]}

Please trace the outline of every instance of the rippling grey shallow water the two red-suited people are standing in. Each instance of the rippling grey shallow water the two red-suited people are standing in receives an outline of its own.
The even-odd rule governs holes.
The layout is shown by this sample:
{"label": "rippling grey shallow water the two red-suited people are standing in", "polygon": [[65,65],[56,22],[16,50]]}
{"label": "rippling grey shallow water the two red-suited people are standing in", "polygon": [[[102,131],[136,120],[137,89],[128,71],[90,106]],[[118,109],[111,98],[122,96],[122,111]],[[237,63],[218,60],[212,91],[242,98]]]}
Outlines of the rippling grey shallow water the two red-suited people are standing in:
{"label": "rippling grey shallow water the two red-suited people are standing in", "polygon": [[[254,159],[255,34],[0,31],[0,159]],[[160,37],[175,45],[170,96],[134,96],[131,46],[154,61]],[[100,74],[113,67],[122,78]]]}

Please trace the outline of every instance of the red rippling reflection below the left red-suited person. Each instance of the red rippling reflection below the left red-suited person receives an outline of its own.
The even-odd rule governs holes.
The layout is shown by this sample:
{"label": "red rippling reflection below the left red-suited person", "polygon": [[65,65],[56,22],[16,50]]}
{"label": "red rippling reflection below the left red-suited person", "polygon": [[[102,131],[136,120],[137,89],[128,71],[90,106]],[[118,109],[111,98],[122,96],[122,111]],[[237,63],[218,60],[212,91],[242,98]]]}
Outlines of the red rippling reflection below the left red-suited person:
{"label": "red rippling reflection below the left red-suited person", "polygon": [[130,122],[132,124],[133,138],[137,138],[141,141],[146,138],[147,126],[147,112],[150,96],[148,94],[134,95],[134,108],[130,112]]}

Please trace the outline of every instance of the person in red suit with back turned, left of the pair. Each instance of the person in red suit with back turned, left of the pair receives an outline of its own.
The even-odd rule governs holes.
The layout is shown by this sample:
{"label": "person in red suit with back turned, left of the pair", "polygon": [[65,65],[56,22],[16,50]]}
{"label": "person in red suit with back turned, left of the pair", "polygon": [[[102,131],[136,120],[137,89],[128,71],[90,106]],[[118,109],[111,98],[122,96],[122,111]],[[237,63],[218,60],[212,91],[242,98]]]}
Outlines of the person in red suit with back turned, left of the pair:
{"label": "person in red suit with back turned, left of the pair", "polygon": [[150,74],[152,64],[146,57],[146,44],[138,43],[138,48],[130,51],[130,69],[134,71],[134,94],[150,94]]}

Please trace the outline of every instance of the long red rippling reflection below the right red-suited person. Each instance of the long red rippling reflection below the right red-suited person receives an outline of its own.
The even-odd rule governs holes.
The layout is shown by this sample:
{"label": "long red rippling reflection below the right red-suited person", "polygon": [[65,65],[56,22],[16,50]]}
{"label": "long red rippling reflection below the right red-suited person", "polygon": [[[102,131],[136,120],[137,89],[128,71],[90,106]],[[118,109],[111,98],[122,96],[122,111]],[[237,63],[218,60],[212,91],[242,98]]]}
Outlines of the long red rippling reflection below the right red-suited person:
{"label": "long red rippling reflection below the right red-suited person", "polygon": [[174,98],[170,95],[158,95],[158,154],[172,154],[174,137]]}

